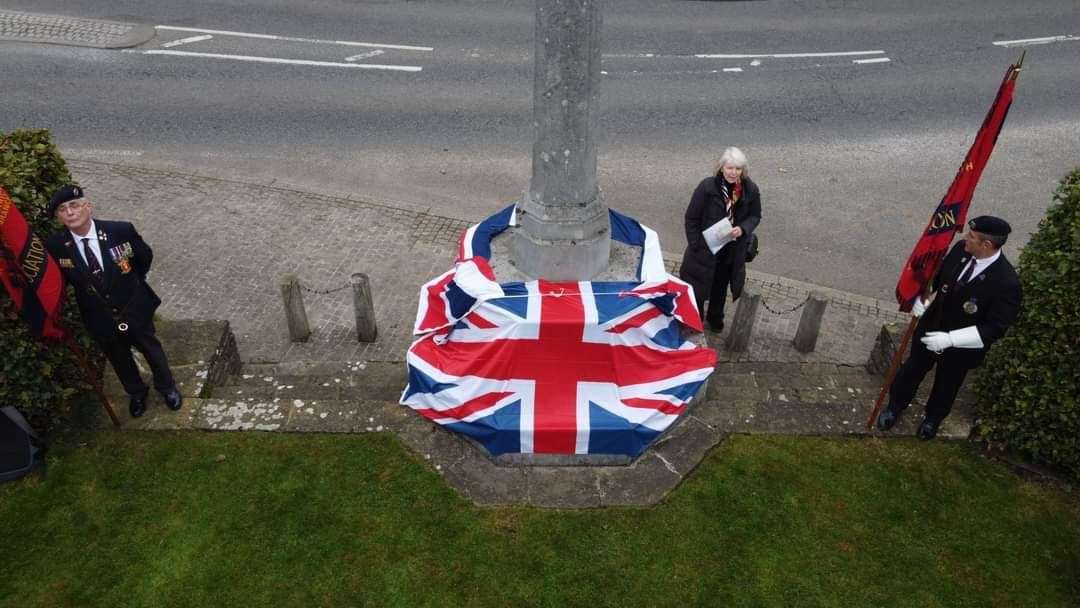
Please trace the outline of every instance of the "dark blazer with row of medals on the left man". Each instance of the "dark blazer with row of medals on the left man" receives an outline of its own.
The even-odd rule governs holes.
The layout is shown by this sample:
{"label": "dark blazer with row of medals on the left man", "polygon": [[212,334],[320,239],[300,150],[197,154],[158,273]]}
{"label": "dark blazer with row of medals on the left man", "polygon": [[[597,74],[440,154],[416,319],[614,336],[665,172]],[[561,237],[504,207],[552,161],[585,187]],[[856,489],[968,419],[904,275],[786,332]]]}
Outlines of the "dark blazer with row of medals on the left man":
{"label": "dark blazer with row of medals on the left man", "polygon": [[117,326],[138,332],[153,320],[161,299],[146,283],[153,252],[127,221],[94,220],[102,249],[102,279],[95,280],[83,261],[82,242],[71,232],[55,232],[45,248],[56,258],[64,279],[75,288],[86,329],[98,342],[118,337]]}

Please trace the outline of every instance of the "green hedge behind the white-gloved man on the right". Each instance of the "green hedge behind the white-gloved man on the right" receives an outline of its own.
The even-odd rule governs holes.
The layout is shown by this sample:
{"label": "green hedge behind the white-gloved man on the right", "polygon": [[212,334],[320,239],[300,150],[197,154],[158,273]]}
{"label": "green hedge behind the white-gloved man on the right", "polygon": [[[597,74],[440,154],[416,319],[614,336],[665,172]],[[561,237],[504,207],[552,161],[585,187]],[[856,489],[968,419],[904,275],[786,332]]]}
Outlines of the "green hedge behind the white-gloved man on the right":
{"label": "green hedge behind the white-gloved man on the right", "polygon": [[1020,320],[975,384],[980,435],[1080,476],[1080,168],[1020,256]]}

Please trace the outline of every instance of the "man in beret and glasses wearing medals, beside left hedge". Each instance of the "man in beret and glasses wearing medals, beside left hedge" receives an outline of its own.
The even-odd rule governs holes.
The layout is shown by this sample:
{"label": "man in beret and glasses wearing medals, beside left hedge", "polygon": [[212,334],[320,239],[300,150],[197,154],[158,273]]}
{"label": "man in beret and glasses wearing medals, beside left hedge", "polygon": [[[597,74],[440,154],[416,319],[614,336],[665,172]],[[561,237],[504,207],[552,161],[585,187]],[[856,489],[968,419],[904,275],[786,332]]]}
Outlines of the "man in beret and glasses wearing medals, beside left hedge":
{"label": "man in beret and glasses wearing medals, beside left hedge", "polygon": [[179,409],[183,397],[154,336],[153,311],[161,299],[146,283],[153,252],[130,222],[95,220],[93,212],[82,188],[60,188],[49,202],[49,213],[65,229],[50,235],[45,247],[75,288],[82,321],[117,371],[130,397],[132,417],[146,411],[149,393],[132,347],[150,364],[153,388],[165,405]]}

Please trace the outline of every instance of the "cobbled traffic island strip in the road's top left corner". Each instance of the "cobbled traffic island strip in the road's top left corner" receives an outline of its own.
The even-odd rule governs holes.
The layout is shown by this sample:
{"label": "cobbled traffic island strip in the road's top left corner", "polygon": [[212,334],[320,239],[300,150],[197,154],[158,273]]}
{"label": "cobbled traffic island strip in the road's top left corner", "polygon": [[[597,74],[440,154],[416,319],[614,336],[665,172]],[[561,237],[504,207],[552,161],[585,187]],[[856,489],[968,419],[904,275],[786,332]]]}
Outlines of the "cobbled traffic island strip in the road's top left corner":
{"label": "cobbled traffic island strip in the road's top left corner", "polygon": [[0,10],[0,40],[124,49],[153,36],[148,25]]}

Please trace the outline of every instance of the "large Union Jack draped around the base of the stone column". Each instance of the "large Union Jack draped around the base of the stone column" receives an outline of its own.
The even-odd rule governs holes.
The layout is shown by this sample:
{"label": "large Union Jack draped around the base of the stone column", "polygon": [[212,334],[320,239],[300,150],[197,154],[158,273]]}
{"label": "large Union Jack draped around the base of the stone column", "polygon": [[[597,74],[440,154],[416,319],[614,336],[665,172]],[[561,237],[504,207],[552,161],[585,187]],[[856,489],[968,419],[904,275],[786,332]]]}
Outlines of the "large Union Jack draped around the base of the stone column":
{"label": "large Union Jack draped around the base of the stone column", "polygon": [[402,404],[492,455],[648,447],[716,353],[683,339],[701,319],[689,285],[663,270],[656,233],[610,213],[612,238],[642,247],[638,281],[499,284],[490,240],[514,208],[467,230],[455,269],[421,288]]}

